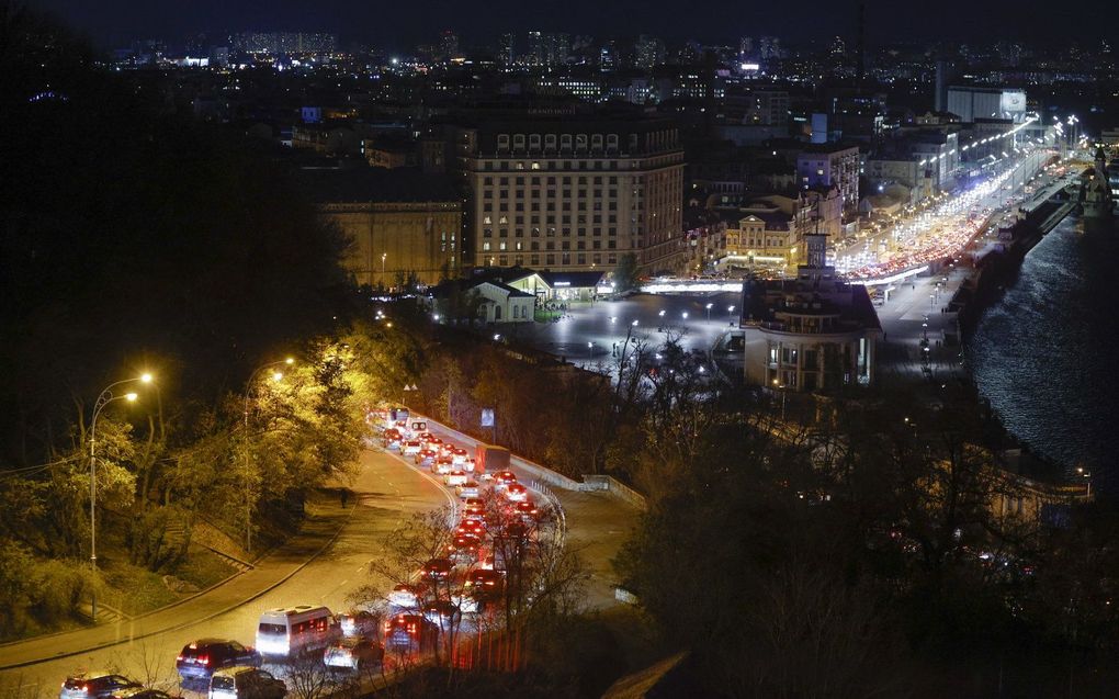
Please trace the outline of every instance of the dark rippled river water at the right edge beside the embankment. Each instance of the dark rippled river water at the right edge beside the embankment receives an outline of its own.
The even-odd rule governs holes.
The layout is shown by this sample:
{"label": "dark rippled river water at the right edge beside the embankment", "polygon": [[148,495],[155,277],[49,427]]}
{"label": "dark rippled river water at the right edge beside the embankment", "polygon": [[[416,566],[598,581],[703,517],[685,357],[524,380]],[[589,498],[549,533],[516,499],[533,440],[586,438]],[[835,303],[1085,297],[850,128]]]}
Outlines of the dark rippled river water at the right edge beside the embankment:
{"label": "dark rippled river water at the right edge beside the embankment", "polygon": [[1119,229],[1065,218],[984,314],[968,359],[1012,434],[1119,494]]}

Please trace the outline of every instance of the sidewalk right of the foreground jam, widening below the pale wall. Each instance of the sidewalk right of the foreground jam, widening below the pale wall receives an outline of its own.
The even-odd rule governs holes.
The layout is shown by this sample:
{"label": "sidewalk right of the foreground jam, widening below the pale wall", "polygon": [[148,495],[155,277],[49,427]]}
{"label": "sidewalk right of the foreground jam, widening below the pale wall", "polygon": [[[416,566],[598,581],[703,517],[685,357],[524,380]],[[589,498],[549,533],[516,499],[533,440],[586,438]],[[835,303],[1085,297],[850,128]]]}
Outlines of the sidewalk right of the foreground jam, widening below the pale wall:
{"label": "sidewalk right of the foreground jam, widening below the pale wall", "polygon": [[[479,443],[431,417],[424,416],[423,419],[433,433],[450,435],[471,447]],[[526,471],[525,460],[516,455],[510,459],[510,470],[524,483],[537,478]],[[619,604],[614,597],[618,579],[611,560],[637,527],[641,512],[606,491],[566,490],[555,483],[549,483],[548,488],[560,499],[567,517],[567,546],[580,552],[591,574],[584,597],[586,607],[601,610]]]}

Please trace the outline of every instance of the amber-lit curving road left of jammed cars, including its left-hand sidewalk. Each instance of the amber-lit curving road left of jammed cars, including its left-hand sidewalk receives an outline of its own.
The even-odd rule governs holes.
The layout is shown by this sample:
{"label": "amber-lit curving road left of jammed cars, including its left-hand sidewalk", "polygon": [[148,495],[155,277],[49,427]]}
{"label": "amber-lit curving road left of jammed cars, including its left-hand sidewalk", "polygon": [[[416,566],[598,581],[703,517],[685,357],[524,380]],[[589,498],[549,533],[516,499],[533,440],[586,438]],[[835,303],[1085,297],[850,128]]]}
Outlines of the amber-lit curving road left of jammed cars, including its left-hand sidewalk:
{"label": "amber-lit curving road left of jammed cars, including its left-hand sidewalk", "polygon": [[[126,625],[81,632],[86,634],[79,639],[86,646],[94,644],[91,642],[112,643],[107,648],[0,671],[0,697],[57,697],[59,682],[78,669],[113,668],[137,680],[177,687],[175,659],[184,645],[204,636],[252,644],[260,613],[269,607],[323,604],[335,611],[345,610],[347,595],[366,580],[365,566],[382,554],[386,537],[413,513],[453,501],[453,495],[434,478],[392,454],[372,451],[361,455],[350,489],[354,495],[349,511],[342,513],[333,507],[321,522],[312,522],[317,536],[298,537],[295,546],[266,557],[253,572],[199,598]],[[337,530],[339,523],[341,529]],[[333,531],[337,538],[331,541]],[[322,552],[303,565],[319,549]],[[246,601],[262,585],[276,580],[282,582]],[[66,649],[73,641],[70,634],[60,634],[0,646],[0,664],[43,658],[51,654],[51,646]]]}

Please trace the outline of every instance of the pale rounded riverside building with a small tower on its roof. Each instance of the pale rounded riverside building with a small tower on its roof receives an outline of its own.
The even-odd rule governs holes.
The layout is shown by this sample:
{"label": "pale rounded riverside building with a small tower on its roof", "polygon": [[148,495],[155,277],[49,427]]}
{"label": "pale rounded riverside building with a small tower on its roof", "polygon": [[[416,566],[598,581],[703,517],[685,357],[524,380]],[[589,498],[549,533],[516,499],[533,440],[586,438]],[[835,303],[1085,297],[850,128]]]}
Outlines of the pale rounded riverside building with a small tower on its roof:
{"label": "pale rounded riverside building with a small tower on its roof", "polygon": [[866,287],[836,277],[824,235],[805,236],[794,280],[747,280],[741,328],[746,382],[775,390],[835,390],[874,380],[882,325]]}

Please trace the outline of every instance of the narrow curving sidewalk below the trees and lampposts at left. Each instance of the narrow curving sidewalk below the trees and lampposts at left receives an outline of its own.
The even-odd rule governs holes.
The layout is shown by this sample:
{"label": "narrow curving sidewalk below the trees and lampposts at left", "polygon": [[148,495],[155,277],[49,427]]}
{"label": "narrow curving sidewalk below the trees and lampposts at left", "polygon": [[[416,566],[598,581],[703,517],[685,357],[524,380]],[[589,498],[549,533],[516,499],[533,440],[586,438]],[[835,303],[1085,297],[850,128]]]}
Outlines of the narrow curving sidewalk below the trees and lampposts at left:
{"label": "narrow curving sidewalk below the trees and lampposts at left", "polygon": [[256,561],[251,570],[191,597],[147,614],[87,629],[47,634],[0,645],[0,670],[10,670],[47,660],[134,641],[207,621],[251,602],[280,585],[314,560],[338,536],[354,508],[318,506],[319,512],[304,521],[300,532]]}

